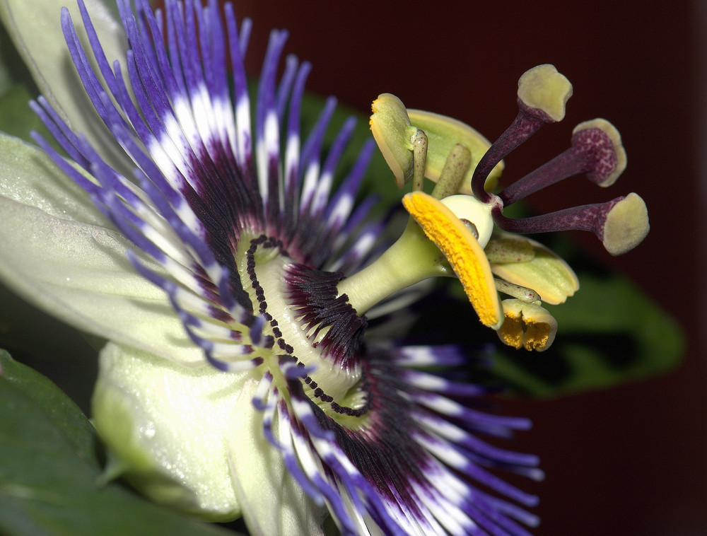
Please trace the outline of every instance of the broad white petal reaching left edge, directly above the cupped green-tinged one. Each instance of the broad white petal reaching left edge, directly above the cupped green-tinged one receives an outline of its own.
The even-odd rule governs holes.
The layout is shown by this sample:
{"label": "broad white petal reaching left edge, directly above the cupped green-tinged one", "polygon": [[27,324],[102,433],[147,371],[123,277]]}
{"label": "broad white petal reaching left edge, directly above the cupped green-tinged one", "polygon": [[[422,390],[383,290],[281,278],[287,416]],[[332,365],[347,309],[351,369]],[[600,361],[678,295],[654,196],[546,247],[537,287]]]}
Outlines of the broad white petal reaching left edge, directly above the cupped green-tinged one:
{"label": "broad white petal reaching left edge, directly above the cupped green-tinged one", "polygon": [[127,260],[122,235],[4,197],[0,221],[0,278],[13,291],[99,337],[180,362],[204,359],[165,293]]}

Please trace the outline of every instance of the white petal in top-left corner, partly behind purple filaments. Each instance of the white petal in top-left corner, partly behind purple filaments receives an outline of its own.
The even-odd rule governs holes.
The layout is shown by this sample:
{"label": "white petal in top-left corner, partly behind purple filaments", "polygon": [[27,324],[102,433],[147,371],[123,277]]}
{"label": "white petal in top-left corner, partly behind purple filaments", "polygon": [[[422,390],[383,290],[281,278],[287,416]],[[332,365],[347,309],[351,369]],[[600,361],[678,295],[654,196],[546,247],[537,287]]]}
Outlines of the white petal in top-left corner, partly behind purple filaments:
{"label": "white petal in top-left corner, partly behind purple filaments", "polygon": [[[122,25],[100,0],[84,1],[108,62],[120,59],[124,64],[127,40]],[[62,32],[62,6],[69,8],[87,48],[88,39],[76,0],[0,0],[0,18],[49,103],[76,132],[85,133],[94,142],[108,163],[122,167],[127,161],[113,152],[115,139],[93,110],[71,62]]]}

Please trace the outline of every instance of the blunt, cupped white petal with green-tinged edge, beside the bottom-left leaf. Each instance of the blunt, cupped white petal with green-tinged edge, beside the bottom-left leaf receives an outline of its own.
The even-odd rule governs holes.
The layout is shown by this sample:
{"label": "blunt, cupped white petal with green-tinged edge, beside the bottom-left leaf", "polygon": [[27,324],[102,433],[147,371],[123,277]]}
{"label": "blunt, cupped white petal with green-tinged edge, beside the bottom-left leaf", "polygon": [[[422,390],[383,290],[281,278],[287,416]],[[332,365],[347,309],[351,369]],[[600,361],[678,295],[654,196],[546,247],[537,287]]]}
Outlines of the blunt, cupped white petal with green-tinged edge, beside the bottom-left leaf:
{"label": "blunt, cupped white petal with green-tinged edge, beside the bottom-left leaf", "polygon": [[226,434],[233,419],[255,412],[252,374],[185,368],[109,343],[100,353],[93,421],[128,479],[151,499],[232,520],[240,508]]}

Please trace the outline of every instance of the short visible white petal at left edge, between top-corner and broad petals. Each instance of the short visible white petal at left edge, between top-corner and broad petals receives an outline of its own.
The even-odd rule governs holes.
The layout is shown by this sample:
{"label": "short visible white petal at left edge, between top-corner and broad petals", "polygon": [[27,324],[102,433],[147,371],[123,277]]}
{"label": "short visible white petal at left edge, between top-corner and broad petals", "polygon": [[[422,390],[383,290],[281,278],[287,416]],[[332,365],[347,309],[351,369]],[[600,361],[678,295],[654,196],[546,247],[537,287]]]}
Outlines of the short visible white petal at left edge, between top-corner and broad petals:
{"label": "short visible white petal at left edge, between top-corner and broad petals", "polygon": [[110,227],[86,192],[44,151],[0,132],[0,196],[61,219]]}

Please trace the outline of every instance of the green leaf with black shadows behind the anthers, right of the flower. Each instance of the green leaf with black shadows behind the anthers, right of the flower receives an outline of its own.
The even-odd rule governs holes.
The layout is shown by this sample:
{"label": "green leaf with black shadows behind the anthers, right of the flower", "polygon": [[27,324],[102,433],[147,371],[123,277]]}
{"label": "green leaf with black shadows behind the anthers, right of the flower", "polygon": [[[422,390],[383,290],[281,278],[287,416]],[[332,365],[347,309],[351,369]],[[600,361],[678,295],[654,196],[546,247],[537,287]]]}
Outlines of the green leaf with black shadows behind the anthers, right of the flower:
{"label": "green leaf with black shadows behind the anthers, right of the flower", "polygon": [[[590,261],[573,259],[573,267]],[[628,279],[578,271],[580,290],[562,305],[547,305],[558,322],[554,344],[544,352],[503,346],[481,325],[457,281],[416,306],[413,344],[468,347],[489,355],[491,365],[471,368],[457,380],[499,385],[510,395],[557,397],[628,383],[679,363],[684,336],[677,322]],[[445,292],[446,291],[446,292]],[[491,344],[489,344],[491,343]]]}

